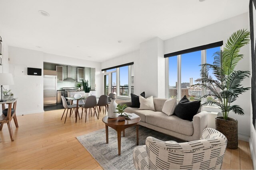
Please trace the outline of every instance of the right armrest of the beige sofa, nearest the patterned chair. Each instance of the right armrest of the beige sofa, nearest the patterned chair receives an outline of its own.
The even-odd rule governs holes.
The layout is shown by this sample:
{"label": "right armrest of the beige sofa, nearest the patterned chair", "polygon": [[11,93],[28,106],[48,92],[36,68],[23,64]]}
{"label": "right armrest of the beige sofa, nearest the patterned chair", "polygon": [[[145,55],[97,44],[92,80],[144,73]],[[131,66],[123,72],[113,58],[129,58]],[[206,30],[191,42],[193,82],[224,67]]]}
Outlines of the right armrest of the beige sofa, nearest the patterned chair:
{"label": "right armrest of the beige sofa, nearest the patterned chair", "polygon": [[206,111],[202,111],[193,117],[193,127],[194,133],[193,138],[198,140],[202,137],[202,133],[204,129],[208,125],[208,113]]}

